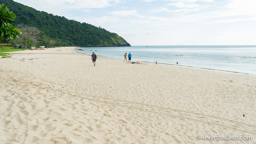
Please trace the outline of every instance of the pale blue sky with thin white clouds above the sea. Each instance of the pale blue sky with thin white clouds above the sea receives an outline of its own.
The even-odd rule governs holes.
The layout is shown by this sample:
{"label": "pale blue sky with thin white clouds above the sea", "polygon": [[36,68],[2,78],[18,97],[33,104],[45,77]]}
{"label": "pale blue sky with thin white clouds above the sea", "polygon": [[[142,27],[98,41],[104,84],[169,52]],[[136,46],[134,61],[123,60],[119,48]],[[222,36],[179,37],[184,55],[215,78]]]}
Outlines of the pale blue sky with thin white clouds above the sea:
{"label": "pale blue sky with thin white clouds above the sea", "polygon": [[256,45],[256,0],[14,0],[105,28],[131,46]]}

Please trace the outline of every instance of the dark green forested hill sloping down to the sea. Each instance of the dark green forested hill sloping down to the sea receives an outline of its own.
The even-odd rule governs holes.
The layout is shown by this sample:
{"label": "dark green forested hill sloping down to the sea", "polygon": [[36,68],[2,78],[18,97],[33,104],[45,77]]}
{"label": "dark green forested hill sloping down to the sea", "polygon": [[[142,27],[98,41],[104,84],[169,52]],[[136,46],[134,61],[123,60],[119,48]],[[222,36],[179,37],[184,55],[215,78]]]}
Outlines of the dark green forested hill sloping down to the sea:
{"label": "dark green forested hill sloping down to the sea", "polygon": [[[16,14],[17,18],[12,23],[14,26],[24,24],[36,27],[46,38],[55,40],[60,46],[130,46],[121,36],[104,28],[37,11],[13,0],[0,0],[0,3],[7,5],[9,11]],[[43,39],[40,43],[45,44]]]}

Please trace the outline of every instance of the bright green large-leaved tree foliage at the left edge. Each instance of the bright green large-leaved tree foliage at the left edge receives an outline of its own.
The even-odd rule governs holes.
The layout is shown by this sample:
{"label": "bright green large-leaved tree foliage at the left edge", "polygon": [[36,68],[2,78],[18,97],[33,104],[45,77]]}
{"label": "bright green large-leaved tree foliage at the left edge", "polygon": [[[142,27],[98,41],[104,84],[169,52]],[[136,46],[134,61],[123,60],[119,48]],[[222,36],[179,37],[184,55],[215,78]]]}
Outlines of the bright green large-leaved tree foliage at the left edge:
{"label": "bright green large-leaved tree foliage at the left edge", "polygon": [[0,5],[0,38],[4,40],[19,38],[18,35],[21,34],[21,31],[11,24],[15,18],[16,14],[12,11],[9,12],[6,5]]}

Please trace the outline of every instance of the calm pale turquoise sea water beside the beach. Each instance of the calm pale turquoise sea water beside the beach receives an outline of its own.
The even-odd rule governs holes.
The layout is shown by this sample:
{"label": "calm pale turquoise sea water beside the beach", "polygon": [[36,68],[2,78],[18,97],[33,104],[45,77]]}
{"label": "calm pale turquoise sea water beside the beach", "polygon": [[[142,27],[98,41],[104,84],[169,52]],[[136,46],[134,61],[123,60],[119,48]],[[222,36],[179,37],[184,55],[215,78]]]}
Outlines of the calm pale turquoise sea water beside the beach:
{"label": "calm pale turquoise sea water beside the beach", "polygon": [[[256,46],[132,46],[80,48],[77,52],[124,60],[170,64],[256,76]],[[127,57],[128,59],[128,57]],[[176,63],[179,63],[178,65]]]}

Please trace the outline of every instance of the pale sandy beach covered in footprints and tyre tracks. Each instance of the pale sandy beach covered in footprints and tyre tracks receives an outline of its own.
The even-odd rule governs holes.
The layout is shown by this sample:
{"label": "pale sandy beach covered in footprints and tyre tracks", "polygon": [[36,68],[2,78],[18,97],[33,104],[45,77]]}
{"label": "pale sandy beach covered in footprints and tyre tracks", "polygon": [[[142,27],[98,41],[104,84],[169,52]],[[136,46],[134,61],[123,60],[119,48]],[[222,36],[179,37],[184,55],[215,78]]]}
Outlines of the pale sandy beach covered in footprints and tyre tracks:
{"label": "pale sandy beach covered in footprints and tyre tracks", "polygon": [[256,77],[103,57],[93,66],[74,47],[9,53],[0,143],[256,143]]}

